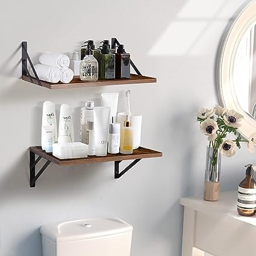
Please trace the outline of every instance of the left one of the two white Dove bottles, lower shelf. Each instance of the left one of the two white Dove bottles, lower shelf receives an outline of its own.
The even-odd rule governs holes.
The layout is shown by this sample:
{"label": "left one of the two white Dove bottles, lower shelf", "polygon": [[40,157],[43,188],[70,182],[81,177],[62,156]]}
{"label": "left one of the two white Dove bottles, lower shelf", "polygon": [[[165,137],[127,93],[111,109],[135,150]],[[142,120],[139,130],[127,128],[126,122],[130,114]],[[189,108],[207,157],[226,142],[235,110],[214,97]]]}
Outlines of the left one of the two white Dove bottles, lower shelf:
{"label": "left one of the two white Dove bottles, lower shelf", "polygon": [[54,137],[53,142],[57,142],[58,134],[57,134],[57,122],[56,122],[56,113],[55,113],[55,105],[51,101],[43,102],[43,114],[42,114],[42,149],[45,150],[45,139],[43,135],[45,131],[43,131],[43,126],[53,126],[54,127]]}

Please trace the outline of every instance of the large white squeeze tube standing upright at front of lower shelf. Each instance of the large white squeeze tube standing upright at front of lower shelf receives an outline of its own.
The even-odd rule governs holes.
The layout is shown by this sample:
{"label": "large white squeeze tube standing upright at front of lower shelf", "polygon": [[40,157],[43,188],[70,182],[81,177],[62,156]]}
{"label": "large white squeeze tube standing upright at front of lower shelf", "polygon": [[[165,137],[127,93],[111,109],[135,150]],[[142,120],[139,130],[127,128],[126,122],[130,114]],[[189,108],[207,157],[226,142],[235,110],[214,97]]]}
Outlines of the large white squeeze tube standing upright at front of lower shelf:
{"label": "large white squeeze tube standing upright at front of lower shelf", "polygon": [[107,155],[110,107],[95,107],[93,109],[93,115],[95,130],[95,155],[104,157]]}

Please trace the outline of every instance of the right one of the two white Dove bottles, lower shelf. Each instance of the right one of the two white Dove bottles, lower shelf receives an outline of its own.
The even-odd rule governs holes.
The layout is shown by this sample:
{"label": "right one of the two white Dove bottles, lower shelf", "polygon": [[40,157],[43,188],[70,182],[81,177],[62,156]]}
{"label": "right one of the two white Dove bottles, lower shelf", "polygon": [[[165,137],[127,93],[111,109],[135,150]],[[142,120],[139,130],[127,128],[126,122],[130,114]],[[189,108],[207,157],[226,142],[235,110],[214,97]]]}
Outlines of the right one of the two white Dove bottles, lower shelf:
{"label": "right one of the two white Dove bottles, lower shelf", "polygon": [[62,104],[60,106],[60,123],[58,126],[58,133],[60,134],[64,124],[67,126],[67,135],[70,137],[70,142],[74,142],[73,137],[73,119],[72,119],[72,109],[70,105]]}

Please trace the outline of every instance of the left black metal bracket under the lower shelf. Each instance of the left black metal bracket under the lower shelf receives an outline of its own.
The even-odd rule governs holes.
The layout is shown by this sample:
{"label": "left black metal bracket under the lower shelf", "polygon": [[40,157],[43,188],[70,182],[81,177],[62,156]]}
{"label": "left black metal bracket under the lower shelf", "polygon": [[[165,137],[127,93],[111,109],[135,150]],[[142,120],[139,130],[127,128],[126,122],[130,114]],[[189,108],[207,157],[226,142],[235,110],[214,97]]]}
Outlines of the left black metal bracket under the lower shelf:
{"label": "left black metal bracket under the lower shelf", "polygon": [[39,170],[39,172],[37,172],[37,175],[36,175],[36,165],[37,163],[39,163],[41,159],[42,157],[40,156],[37,157],[36,159],[36,154],[30,151],[30,187],[36,187],[36,181],[39,179],[39,177],[42,175],[42,173],[51,163],[50,160],[47,160],[46,163]]}

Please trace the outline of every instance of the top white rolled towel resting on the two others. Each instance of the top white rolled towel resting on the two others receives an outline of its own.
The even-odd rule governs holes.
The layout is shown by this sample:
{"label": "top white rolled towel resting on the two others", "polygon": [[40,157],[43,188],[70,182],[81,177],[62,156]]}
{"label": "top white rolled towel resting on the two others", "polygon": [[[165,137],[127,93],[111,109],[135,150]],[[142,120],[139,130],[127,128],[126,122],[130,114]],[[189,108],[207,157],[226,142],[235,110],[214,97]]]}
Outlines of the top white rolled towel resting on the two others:
{"label": "top white rolled towel resting on the two others", "polygon": [[69,57],[64,54],[55,54],[54,52],[44,52],[39,56],[39,61],[41,64],[49,65],[53,67],[69,67]]}

